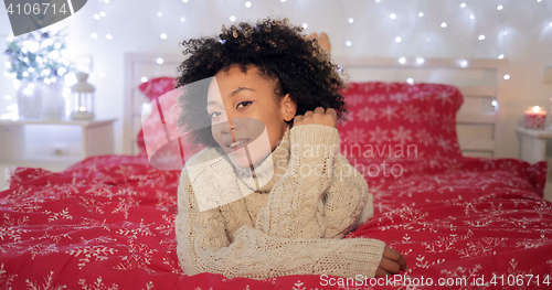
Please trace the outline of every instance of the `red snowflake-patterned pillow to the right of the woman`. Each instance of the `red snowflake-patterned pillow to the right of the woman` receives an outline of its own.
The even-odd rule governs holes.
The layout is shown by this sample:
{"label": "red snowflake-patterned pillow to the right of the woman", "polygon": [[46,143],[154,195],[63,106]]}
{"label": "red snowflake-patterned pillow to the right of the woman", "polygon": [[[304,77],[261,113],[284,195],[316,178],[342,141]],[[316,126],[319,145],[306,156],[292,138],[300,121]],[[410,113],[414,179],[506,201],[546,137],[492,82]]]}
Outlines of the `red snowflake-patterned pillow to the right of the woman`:
{"label": "red snowflake-patterned pillow to the right of the woman", "polygon": [[456,111],[458,88],[440,84],[349,83],[349,106],[338,125],[341,153],[349,158],[461,157]]}

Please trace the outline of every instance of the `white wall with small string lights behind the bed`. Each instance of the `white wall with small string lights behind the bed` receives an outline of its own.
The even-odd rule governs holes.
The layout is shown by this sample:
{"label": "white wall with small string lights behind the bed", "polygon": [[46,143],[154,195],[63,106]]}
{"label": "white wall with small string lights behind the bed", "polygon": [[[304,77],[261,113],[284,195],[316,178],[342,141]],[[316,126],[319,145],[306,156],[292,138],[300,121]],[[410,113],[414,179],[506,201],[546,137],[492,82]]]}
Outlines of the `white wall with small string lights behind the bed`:
{"label": "white wall with small string lights behind the bed", "polygon": [[[351,56],[423,56],[423,57],[497,57],[509,60],[505,101],[499,104],[508,116],[503,140],[506,157],[517,158],[519,144],[516,127],[528,106],[549,107],[552,87],[543,85],[544,64],[552,63],[552,0],[89,0],[75,15],[56,28],[68,26],[65,56],[77,60],[93,57],[89,82],[97,88],[98,117],[116,117],[116,151],[123,152],[123,74],[124,54],[128,52],[173,52],[184,39],[214,35],[222,24],[229,26],[231,15],[237,21],[286,17],[293,23],[307,23],[306,33],[326,31],[333,55]],[[466,8],[460,8],[465,2]],[[497,10],[501,4],[503,9]],[[93,15],[105,11],[106,17]],[[162,17],[157,13],[161,12]],[[418,12],[424,17],[418,18]],[[396,20],[390,18],[396,14]],[[469,15],[475,19],[470,20]],[[185,21],[180,19],[184,17]],[[354,22],[349,23],[348,19]],[[440,28],[446,22],[447,28]],[[503,31],[507,35],[503,35]],[[6,10],[0,10],[0,47],[11,26]],[[98,39],[93,39],[92,33]],[[113,40],[105,35],[109,33]],[[167,40],[160,37],[167,33]],[[478,36],[486,39],[479,41]],[[402,41],[394,40],[401,36]],[[429,37],[429,42],[427,42]],[[352,45],[347,46],[346,42]],[[0,63],[7,57],[2,54]],[[14,103],[12,79],[0,66],[0,115]],[[104,73],[105,77],[99,77]],[[4,96],[12,96],[6,99]]]}

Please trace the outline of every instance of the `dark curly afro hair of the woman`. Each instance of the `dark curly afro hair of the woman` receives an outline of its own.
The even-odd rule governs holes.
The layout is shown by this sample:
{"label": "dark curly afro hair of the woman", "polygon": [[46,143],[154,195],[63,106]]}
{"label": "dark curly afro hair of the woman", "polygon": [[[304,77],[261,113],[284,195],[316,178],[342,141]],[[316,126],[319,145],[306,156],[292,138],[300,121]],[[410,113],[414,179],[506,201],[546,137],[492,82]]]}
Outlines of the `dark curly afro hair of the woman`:
{"label": "dark curly afro hair of the woman", "polygon": [[[289,94],[297,104],[296,115],[317,107],[333,108],[338,119],[343,120],[347,108],[339,94],[344,86],[341,68],[331,63],[317,40],[308,40],[301,32],[302,28],[289,25],[287,19],[265,19],[256,24],[241,22],[230,29],[223,25],[222,33],[214,37],[183,41],[182,54],[189,57],[178,67],[177,88],[185,92],[187,85],[211,78],[232,65],[240,65],[244,73],[255,66],[261,76],[276,80],[275,99]],[[205,110],[209,83],[188,87],[194,92],[180,95],[178,125],[192,132],[194,146],[216,146]]]}

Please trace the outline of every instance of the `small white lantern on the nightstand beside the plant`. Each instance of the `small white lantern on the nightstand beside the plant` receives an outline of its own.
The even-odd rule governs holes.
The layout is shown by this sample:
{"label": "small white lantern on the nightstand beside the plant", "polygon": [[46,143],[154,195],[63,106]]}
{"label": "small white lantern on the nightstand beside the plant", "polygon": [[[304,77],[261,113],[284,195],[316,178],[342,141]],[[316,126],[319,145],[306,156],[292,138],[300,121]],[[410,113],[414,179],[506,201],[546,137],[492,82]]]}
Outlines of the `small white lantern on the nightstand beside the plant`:
{"label": "small white lantern on the nightstand beside the plant", "polygon": [[86,83],[88,74],[77,73],[78,82],[71,87],[71,119],[92,120],[94,119],[94,88]]}

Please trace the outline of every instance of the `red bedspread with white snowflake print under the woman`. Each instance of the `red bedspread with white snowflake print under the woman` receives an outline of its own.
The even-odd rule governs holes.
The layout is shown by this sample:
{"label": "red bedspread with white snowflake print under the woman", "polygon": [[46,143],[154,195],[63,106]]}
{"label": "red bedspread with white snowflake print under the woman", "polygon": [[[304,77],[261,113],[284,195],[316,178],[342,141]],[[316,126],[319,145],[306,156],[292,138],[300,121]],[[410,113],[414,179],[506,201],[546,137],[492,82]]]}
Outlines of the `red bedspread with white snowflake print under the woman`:
{"label": "red bedspread with white snowflake print under the woman", "polygon": [[[378,238],[400,250],[408,270],[397,279],[411,278],[411,286],[361,277],[351,284],[320,276],[266,281],[184,276],[173,228],[180,172],[157,170],[145,158],[113,155],[87,159],[62,173],[14,172],[11,187],[0,192],[0,289],[434,289],[438,282],[455,283],[443,289],[501,289],[502,284],[546,289],[546,282],[552,284],[548,278],[552,203],[542,198],[544,162],[350,161],[367,176],[375,216],[348,238]],[[466,284],[458,284],[461,278]],[[378,282],[388,286],[370,286]],[[427,287],[429,282],[433,287]]]}

